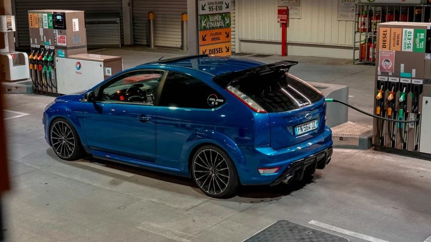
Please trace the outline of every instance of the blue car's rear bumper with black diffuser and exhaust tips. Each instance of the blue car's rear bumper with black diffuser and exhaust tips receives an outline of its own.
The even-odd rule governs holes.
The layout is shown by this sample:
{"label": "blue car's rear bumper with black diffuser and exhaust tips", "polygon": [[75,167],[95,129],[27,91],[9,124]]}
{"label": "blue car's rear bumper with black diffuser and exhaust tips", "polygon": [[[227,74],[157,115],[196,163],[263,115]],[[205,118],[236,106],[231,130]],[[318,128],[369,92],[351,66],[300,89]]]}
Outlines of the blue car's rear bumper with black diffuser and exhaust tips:
{"label": "blue car's rear bumper with black diffuser and exhaust tips", "polygon": [[[324,168],[321,162],[323,159],[327,160],[332,154],[332,132],[326,127],[325,131],[317,137],[278,150],[272,149],[269,145],[239,146],[238,148],[241,149],[246,160],[242,164],[236,163],[242,185],[276,185],[287,175],[295,173],[294,171],[297,171],[295,178],[302,178],[300,175],[304,174],[305,168],[312,168],[310,165]],[[261,174],[258,170],[258,168],[274,167],[280,167],[280,169],[273,174]]]}

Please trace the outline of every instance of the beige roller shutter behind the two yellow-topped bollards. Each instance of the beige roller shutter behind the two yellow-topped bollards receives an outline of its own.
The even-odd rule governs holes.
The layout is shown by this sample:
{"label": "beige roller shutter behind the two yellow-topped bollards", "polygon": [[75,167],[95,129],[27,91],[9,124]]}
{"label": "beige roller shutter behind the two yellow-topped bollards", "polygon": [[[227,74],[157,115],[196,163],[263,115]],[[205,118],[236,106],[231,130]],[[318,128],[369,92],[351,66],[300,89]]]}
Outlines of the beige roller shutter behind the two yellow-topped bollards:
{"label": "beige roller shutter behind the two yellow-topped bollards", "polygon": [[133,42],[149,44],[148,12],[154,12],[156,46],[181,47],[181,14],[187,0],[133,0]]}

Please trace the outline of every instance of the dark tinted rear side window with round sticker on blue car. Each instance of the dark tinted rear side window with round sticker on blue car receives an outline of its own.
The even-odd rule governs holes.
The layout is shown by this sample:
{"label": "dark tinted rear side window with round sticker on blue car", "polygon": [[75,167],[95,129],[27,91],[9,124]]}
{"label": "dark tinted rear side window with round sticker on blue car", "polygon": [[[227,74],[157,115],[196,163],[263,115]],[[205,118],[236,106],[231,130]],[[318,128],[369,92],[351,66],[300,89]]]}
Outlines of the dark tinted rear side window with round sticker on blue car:
{"label": "dark tinted rear side window with round sticker on blue car", "polygon": [[159,106],[211,109],[225,102],[224,97],[198,79],[171,72],[163,86]]}

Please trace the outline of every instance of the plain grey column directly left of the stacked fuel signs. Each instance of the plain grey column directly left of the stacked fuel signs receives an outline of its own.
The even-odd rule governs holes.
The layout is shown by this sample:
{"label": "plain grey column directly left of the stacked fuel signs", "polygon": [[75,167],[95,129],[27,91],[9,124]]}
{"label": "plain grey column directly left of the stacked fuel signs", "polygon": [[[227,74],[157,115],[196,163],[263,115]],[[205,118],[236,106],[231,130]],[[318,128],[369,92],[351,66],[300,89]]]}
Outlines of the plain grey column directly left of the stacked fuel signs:
{"label": "plain grey column directly left of the stacked fuel signs", "polygon": [[188,55],[199,53],[198,44],[198,0],[187,0]]}

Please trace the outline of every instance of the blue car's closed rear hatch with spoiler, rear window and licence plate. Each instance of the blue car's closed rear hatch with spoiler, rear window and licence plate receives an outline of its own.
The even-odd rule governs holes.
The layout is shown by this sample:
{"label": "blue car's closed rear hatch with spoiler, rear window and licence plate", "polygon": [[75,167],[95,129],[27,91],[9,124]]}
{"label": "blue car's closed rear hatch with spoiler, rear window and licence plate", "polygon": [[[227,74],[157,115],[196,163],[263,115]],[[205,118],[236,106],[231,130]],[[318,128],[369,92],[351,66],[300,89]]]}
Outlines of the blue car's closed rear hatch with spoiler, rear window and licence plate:
{"label": "blue car's closed rear hatch with spoiler, rear window and licence plate", "polygon": [[288,73],[296,64],[279,62],[213,78],[254,111],[268,113],[273,149],[305,142],[325,129],[323,95]]}

